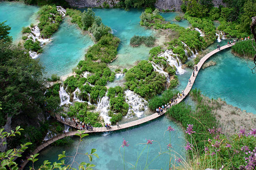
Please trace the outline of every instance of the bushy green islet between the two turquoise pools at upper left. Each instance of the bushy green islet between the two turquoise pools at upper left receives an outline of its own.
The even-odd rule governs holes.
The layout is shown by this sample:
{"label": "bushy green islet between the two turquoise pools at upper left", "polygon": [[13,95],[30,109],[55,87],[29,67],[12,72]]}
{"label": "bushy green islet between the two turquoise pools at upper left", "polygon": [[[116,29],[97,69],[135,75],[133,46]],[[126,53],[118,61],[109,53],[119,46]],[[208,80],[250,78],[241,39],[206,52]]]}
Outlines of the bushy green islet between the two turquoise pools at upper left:
{"label": "bushy green islet between the two turquoise pools at upper left", "polygon": [[41,31],[41,36],[49,38],[58,30],[61,23],[61,15],[58,13],[55,5],[44,5],[38,11],[39,21],[38,27]]}

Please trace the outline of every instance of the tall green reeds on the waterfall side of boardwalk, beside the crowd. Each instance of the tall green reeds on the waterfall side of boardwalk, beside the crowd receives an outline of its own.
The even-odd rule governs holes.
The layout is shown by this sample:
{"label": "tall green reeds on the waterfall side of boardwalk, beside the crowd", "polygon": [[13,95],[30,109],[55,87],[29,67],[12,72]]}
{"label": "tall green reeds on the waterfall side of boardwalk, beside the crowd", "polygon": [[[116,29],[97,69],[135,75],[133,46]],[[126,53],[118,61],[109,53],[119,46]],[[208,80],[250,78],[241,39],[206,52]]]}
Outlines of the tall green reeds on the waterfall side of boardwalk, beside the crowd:
{"label": "tall green reeds on the waterfall side of boardwalk, beside the crowd", "polygon": [[176,99],[178,90],[165,90],[161,96],[154,96],[148,102],[148,107],[151,111],[155,111],[156,108],[161,107],[161,105],[165,105],[171,101],[171,99]]}

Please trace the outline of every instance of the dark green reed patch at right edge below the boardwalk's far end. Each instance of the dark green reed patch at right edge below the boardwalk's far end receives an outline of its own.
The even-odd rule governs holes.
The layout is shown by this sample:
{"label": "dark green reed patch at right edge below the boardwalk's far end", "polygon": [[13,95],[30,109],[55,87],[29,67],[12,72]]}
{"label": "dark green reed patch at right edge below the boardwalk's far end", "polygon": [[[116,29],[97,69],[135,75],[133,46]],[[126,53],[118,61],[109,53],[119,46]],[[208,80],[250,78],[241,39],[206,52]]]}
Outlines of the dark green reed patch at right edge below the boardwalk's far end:
{"label": "dark green reed patch at right edge below the boardwalk's far end", "polygon": [[240,56],[246,56],[249,58],[253,58],[254,55],[256,54],[256,51],[254,50],[253,47],[255,47],[255,41],[251,41],[251,40],[246,40],[246,41],[240,41],[237,42],[235,45],[233,45],[231,47],[232,52],[234,52],[237,55]]}

